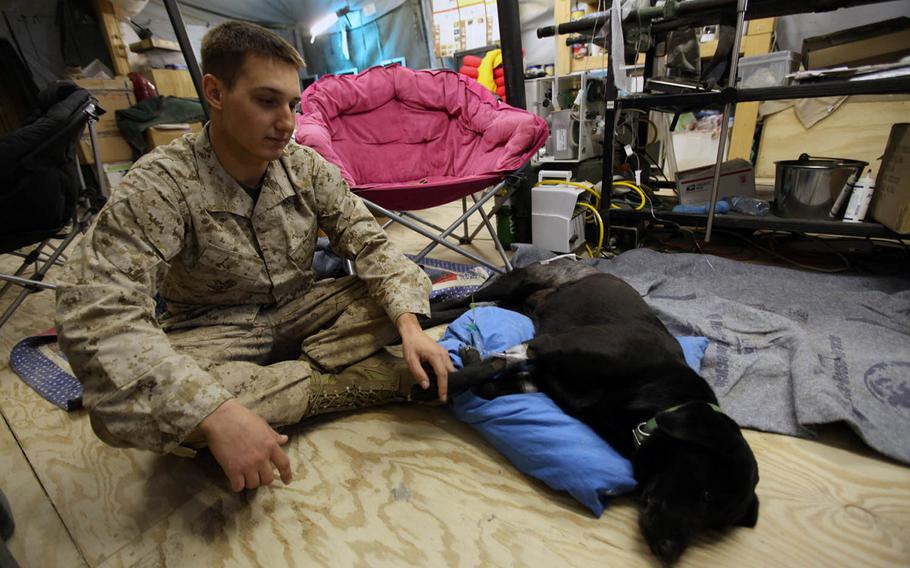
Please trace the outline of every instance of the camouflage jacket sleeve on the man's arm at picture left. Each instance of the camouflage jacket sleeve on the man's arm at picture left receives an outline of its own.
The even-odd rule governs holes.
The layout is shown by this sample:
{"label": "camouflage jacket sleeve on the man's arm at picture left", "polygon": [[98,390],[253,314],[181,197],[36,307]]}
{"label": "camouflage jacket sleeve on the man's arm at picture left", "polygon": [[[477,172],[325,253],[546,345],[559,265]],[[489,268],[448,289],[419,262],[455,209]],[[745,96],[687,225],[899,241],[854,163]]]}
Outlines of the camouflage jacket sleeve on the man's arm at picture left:
{"label": "camouflage jacket sleeve on the man's arm at picture left", "polygon": [[165,453],[231,394],[177,353],[154,294],[183,247],[175,182],[151,167],[127,174],[75,247],[57,289],[60,346],[105,442]]}

